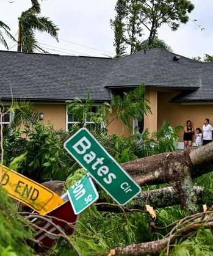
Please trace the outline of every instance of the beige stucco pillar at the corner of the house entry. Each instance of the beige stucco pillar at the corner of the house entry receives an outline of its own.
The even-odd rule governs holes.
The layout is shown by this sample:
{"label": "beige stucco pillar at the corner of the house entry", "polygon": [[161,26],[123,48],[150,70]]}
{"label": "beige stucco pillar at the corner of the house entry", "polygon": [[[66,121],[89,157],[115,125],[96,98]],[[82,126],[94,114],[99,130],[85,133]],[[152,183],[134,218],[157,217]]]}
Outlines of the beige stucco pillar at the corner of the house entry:
{"label": "beige stucco pillar at the corner of the house entry", "polygon": [[146,90],[145,98],[149,101],[151,114],[144,115],[144,128],[148,129],[150,134],[157,131],[157,92],[154,90]]}

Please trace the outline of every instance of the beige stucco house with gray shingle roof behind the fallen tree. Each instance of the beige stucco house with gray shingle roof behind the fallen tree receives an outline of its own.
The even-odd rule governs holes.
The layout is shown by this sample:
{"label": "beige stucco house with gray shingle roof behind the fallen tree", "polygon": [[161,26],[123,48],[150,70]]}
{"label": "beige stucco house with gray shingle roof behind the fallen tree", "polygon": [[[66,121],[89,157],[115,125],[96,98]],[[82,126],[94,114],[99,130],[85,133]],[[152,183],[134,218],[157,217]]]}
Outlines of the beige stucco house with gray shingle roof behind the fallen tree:
{"label": "beige stucco house with gray shingle roof behind the fallen tree", "polygon": [[[212,62],[159,48],[120,59],[0,51],[0,100],[29,100],[43,114],[43,122],[68,130],[74,118],[67,114],[67,100],[85,100],[89,92],[100,104],[111,100],[110,92],[145,84],[152,114],[145,115],[144,128],[152,133],[164,120],[184,126],[188,119],[196,128],[206,117],[213,122],[212,71]],[[128,130],[114,120],[109,133],[128,135]]]}

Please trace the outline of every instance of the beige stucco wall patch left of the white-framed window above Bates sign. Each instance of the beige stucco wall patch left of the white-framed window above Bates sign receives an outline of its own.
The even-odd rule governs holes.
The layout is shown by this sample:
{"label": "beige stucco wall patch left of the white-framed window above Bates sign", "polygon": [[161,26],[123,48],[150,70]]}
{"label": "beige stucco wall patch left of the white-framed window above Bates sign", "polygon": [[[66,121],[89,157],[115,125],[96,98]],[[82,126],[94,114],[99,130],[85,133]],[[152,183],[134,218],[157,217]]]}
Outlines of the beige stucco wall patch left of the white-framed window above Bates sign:
{"label": "beige stucco wall patch left of the white-framed window above Bates sign", "polygon": [[66,130],[66,105],[35,103],[35,109],[44,114],[43,123],[51,123],[56,130]]}

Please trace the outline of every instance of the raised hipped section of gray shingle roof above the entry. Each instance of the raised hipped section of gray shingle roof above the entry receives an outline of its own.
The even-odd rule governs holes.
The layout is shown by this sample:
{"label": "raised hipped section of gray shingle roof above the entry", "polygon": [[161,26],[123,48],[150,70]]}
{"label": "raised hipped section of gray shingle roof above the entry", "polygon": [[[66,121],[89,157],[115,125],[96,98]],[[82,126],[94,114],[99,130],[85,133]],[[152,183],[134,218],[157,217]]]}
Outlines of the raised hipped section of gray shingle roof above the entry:
{"label": "raised hipped section of gray shingle roof above the entry", "polygon": [[200,86],[200,62],[162,49],[146,49],[123,57],[115,64],[105,86],[173,87],[191,89]]}

